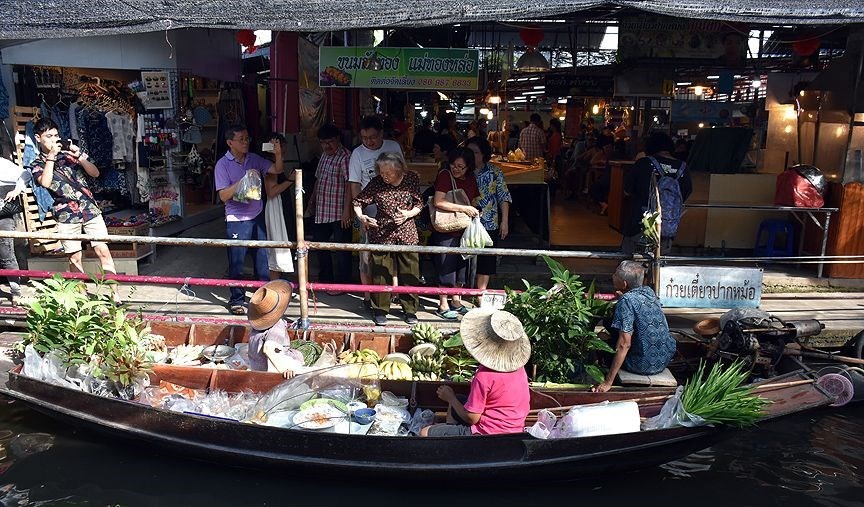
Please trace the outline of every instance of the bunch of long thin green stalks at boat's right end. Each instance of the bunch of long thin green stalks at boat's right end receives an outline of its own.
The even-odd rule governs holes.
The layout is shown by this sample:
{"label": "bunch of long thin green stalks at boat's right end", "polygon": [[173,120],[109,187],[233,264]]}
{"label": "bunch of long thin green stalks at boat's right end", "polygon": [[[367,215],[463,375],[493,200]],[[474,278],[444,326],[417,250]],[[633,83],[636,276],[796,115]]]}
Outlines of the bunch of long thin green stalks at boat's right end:
{"label": "bunch of long thin green stalks at boat's right end", "polygon": [[705,363],[700,362],[696,374],[684,385],[681,406],[711,423],[737,427],[756,424],[770,401],[755,395],[752,386],[742,385],[748,375],[740,361],[725,371],[720,363],[714,363],[707,375]]}

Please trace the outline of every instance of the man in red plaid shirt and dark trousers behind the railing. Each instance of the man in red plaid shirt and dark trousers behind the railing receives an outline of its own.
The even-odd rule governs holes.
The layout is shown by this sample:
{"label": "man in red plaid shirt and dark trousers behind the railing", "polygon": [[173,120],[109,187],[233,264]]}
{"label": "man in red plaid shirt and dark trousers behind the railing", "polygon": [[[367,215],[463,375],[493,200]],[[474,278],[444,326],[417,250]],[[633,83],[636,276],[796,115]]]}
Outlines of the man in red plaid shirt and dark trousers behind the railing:
{"label": "man in red plaid shirt and dark trousers behind the railing", "polygon": [[[339,128],[332,123],[318,129],[321,160],[315,171],[315,188],[306,208],[307,216],[315,217],[313,234],[316,241],[351,242],[351,192],[348,187],[349,152],[340,140]],[[351,279],[351,252],[322,250],[318,258],[318,280],[323,283]],[[336,295],[337,292],[328,291]]]}

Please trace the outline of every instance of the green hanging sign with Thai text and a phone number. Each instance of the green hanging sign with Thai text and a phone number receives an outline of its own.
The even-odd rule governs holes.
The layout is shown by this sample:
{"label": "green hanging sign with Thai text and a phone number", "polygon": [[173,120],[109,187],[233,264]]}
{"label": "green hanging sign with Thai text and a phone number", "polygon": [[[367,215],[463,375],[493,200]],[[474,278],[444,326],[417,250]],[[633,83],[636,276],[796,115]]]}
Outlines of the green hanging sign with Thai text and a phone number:
{"label": "green hanging sign with Thai text and a phone number", "polygon": [[321,46],[319,57],[321,86],[477,90],[476,49]]}

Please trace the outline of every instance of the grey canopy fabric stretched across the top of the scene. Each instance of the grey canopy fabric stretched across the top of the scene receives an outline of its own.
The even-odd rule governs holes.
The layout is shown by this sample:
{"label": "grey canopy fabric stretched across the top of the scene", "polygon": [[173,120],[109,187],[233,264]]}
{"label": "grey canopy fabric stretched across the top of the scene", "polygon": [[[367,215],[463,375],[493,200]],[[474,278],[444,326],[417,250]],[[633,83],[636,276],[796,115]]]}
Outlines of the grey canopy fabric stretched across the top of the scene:
{"label": "grey canopy fabric stretched across the top of the scene", "polygon": [[742,23],[864,22],[861,0],[0,0],[0,39],[176,28],[320,32],[537,19],[611,6]]}

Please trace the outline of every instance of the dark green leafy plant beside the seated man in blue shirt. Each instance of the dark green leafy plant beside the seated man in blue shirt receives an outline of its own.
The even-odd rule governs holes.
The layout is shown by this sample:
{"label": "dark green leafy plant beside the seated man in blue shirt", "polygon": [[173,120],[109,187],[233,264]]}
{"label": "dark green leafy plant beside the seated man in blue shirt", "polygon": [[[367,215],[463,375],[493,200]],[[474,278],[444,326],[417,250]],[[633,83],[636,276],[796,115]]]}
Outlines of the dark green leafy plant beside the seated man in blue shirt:
{"label": "dark green leafy plant beside the seated man in blue shirt", "polygon": [[609,314],[612,303],[594,297],[593,282],[586,288],[578,275],[558,261],[545,256],[543,260],[552,272],[551,288],[525,280],[522,292],[505,287],[504,309],[522,321],[531,339],[534,380],[572,382],[584,368],[591,378],[601,382],[604,375],[594,353],[613,350],[597,338],[594,327]]}

